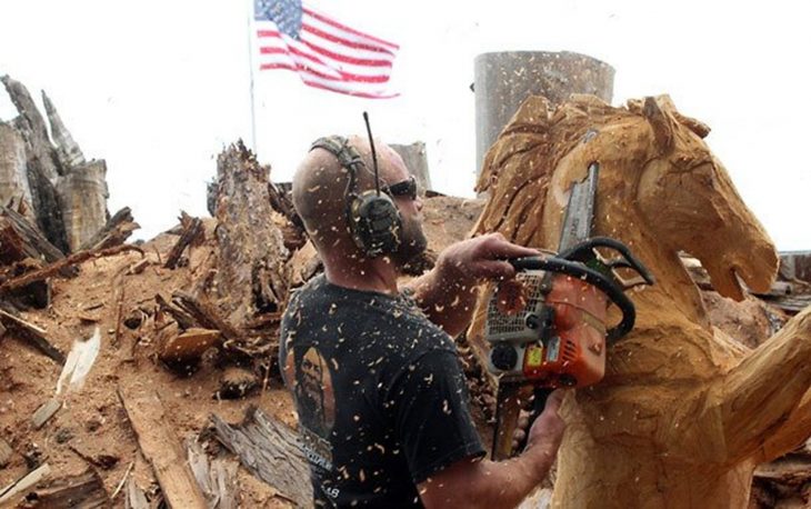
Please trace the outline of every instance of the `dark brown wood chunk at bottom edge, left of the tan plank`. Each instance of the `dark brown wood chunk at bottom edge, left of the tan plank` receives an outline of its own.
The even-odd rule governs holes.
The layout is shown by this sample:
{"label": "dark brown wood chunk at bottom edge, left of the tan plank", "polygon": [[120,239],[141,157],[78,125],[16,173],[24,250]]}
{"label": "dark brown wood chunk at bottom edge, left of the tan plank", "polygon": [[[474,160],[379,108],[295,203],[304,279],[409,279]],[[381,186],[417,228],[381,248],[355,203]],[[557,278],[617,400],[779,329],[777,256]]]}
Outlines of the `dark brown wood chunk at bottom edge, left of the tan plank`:
{"label": "dark brown wood chunk at bottom edge, left of the tan plank", "polygon": [[88,469],[78,476],[54,479],[44,487],[32,490],[28,498],[36,501],[34,507],[49,509],[112,507],[104,482],[93,469]]}

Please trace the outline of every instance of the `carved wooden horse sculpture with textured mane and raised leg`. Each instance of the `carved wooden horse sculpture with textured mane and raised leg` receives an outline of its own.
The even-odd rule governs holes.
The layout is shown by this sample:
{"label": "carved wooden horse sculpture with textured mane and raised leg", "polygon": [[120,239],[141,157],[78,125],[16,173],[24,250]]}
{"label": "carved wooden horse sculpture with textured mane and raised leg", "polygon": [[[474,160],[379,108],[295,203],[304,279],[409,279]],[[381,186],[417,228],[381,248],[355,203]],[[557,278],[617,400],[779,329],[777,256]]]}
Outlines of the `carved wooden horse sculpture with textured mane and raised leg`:
{"label": "carved wooden horse sculpture with textured mane and raised leg", "polygon": [[[573,182],[600,162],[594,234],[627,243],[657,285],[603,381],[572,391],[553,507],[742,508],[760,462],[811,435],[811,309],[755,350],[714,329],[679,252],[723,296],[765,291],[778,257],[703,137],[665,96],[613,108],[528,99],[490,149],[477,232],[555,249]],[[469,338],[480,360],[482,306]]]}

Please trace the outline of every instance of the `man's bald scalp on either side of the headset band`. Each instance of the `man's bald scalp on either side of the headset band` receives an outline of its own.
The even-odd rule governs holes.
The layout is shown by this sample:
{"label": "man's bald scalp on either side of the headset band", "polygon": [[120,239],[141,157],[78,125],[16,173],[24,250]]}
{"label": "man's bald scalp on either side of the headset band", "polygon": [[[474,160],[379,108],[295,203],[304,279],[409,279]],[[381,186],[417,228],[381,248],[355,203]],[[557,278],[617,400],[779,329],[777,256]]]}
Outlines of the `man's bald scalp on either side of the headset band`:
{"label": "man's bald scalp on either side of the headset band", "polygon": [[[319,252],[323,252],[327,247],[343,252],[354,248],[347,221],[347,192],[360,194],[374,189],[374,166],[369,141],[354,136],[349,138],[349,144],[358,151],[363,162],[362,167],[356,167],[354,189],[347,189],[349,170],[322,148],[308,152],[293,177],[293,207]],[[406,164],[393,149],[377,140],[374,148],[381,184],[408,177]]]}

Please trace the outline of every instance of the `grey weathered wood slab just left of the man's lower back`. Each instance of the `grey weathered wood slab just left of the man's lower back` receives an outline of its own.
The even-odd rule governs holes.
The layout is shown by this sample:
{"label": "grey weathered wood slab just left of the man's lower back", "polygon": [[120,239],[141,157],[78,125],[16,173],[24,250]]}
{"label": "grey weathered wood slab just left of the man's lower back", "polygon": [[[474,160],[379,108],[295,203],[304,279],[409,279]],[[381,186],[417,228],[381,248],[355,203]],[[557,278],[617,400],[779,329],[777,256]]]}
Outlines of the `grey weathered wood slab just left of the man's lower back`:
{"label": "grey weathered wood slab just left of the man's lower back", "polygon": [[300,449],[296,431],[250,407],[244,420],[230,426],[216,415],[211,422],[220,440],[239,456],[242,465],[300,507],[312,505],[310,468]]}

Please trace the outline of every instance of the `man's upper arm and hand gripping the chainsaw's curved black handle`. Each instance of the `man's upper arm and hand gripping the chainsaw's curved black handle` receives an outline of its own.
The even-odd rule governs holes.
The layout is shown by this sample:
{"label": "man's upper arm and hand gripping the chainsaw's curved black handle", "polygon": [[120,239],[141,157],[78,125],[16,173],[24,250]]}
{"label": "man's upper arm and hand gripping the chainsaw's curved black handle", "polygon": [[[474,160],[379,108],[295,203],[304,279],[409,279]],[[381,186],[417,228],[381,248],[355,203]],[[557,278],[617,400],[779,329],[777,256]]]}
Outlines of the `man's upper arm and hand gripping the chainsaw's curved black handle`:
{"label": "man's upper arm and hand gripping the chainsaw's curved black handle", "polygon": [[538,255],[534,249],[508,242],[501,233],[474,237],[449,246],[434,268],[407,288],[432,322],[458,336],[470,323],[479,283],[511,279],[515,270],[507,259]]}

